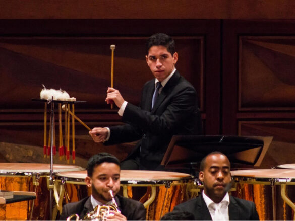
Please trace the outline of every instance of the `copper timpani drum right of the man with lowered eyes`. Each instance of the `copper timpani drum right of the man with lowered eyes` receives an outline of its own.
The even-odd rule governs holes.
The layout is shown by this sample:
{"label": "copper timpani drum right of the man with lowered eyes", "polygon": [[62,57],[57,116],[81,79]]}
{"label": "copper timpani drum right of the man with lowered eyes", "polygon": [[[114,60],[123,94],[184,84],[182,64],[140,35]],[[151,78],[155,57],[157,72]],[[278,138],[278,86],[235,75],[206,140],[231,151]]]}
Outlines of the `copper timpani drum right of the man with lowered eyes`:
{"label": "copper timpani drum right of the man with lowered eyes", "polygon": [[[233,181],[240,185],[237,186],[238,197],[254,201],[261,220],[295,218],[292,217],[292,210],[295,211],[295,205],[292,203],[294,169],[237,170],[231,171],[231,176]],[[286,190],[293,199],[287,197]]]}

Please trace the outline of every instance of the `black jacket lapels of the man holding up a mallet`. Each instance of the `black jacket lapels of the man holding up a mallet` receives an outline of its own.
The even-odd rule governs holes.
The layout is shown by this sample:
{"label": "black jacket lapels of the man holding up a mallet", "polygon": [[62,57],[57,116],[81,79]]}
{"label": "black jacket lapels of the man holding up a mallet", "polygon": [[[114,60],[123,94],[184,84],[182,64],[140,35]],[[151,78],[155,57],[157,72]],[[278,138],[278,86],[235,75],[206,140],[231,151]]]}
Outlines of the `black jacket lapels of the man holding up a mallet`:
{"label": "black jacket lapels of the man holding up a mallet", "polygon": [[[165,87],[163,88],[163,90],[161,91],[161,93],[159,94],[156,103],[151,111],[152,114],[155,113],[155,111],[158,109],[158,107],[160,106],[160,104],[162,103],[162,101],[169,95],[171,94],[171,91],[174,88],[174,85],[176,85],[179,81],[180,78],[180,73],[178,72],[178,70],[175,71],[174,75],[169,79],[169,81],[167,82],[167,84],[165,85]],[[151,94],[151,96],[153,95],[155,90],[155,86],[153,87],[153,92]],[[152,103],[152,99],[151,102]]]}

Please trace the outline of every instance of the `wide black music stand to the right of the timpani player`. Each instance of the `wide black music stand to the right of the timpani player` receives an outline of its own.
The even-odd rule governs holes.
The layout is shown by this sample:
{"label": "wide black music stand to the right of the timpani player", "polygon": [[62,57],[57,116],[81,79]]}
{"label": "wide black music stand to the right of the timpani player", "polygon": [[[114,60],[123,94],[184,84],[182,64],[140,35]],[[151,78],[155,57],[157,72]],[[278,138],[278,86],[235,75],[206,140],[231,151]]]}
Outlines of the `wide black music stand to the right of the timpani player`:
{"label": "wide black music stand to the right of the timpani player", "polygon": [[260,166],[272,136],[173,136],[161,165],[167,168],[198,170],[207,154],[219,151],[225,154],[231,169]]}

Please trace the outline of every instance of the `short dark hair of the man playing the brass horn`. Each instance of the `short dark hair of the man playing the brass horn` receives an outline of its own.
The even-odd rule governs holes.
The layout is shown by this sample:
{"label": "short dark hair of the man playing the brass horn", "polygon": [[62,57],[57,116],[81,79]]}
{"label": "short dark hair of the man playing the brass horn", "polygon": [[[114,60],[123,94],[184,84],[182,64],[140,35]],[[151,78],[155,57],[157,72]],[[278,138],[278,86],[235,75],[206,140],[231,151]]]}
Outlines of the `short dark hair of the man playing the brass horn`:
{"label": "short dark hair of the man playing the brass horn", "polygon": [[120,161],[115,156],[109,153],[99,153],[99,154],[93,155],[89,159],[87,164],[87,176],[92,177],[94,168],[104,162],[114,163],[120,167]]}

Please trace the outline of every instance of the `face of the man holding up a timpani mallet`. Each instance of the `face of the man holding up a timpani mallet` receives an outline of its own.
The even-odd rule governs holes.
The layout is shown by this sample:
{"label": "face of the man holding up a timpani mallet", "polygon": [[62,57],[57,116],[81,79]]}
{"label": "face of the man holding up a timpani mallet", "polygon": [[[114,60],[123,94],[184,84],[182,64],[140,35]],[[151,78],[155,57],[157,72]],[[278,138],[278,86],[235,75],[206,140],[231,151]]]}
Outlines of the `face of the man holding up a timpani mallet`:
{"label": "face of the man holding up a timpani mallet", "polygon": [[173,56],[164,46],[152,46],[149,53],[145,56],[146,62],[150,67],[153,75],[160,82],[167,78],[175,67],[178,60],[178,54],[175,52]]}

